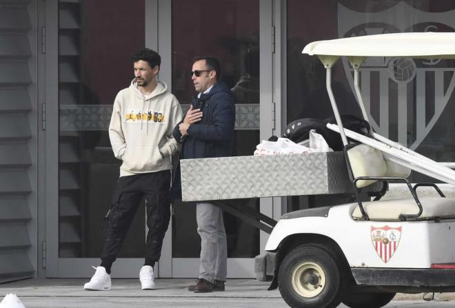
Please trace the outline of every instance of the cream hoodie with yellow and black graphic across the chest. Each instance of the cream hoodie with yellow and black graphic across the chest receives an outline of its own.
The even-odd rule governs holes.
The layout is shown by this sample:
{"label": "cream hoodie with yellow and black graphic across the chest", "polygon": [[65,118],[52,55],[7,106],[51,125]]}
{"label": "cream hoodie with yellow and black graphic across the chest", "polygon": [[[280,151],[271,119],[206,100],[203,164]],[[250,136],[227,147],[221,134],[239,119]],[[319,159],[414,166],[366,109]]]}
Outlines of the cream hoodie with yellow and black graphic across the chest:
{"label": "cream hoodie with yellow and black graphic across the chest", "polygon": [[133,80],[117,94],[109,138],[114,156],[123,161],[120,176],[172,169],[171,156],[179,151],[172,130],[183,116],[167,88],[156,81],[153,92],[144,95]]}

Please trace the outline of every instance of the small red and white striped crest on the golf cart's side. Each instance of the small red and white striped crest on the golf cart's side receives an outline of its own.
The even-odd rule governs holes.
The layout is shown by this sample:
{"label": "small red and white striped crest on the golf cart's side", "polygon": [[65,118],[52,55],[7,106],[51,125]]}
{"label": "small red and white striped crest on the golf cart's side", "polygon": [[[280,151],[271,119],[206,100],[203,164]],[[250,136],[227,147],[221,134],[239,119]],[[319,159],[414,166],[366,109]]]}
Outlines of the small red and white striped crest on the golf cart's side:
{"label": "small red and white striped crest on the golf cart's side", "polygon": [[384,263],[394,256],[396,249],[398,249],[398,243],[401,238],[401,227],[373,227],[372,226],[372,243],[374,249],[378,253],[378,256]]}

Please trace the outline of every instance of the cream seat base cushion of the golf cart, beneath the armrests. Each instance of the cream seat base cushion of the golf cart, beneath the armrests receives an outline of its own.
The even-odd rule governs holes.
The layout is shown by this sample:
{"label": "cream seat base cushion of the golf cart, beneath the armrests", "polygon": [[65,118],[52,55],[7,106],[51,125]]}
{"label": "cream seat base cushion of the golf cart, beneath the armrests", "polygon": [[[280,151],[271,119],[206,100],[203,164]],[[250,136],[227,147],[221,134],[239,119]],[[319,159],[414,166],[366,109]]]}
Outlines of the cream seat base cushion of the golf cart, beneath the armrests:
{"label": "cream seat base cushion of the golf cart, beneath the armrests", "polygon": [[[419,198],[423,212],[418,219],[455,218],[455,198]],[[363,202],[363,209],[370,220],[400,220],[402,214],[417,214],[418,206],[414,198]],[[354,219],[362,219],[358,205],[352,212]]]}

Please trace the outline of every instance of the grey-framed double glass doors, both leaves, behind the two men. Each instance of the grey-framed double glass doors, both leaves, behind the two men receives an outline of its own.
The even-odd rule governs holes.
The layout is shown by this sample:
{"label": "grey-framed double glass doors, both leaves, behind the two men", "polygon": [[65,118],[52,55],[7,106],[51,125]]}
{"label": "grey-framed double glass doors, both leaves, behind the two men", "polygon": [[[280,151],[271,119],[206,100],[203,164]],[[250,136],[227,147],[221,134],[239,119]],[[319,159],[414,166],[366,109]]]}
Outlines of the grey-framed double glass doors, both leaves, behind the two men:
{"label": "grey-framed double glass doors, both leaves, behind the two men", "polygon": [[[99,224],[119,176],[108,124],[114,97],[133,77],[131,54],[144,45],[161,54],[159,79],[184,110],[194,95],[192,58],[218,57],[237,99],[236,155],[252,155],[261,138],[274,133],[272,0],[223,0],[216,8],[208,0],[51,0],[45,1],[45,16],[46,275],[90,277],[90,265],[100,262]],[[273,211],[271,198],[234,202],[275,218],[281,214]],[[195,208],[177,204],[174,211],[155,271],[159,277],[195,277]],[[228,214],[225,227],[228,276],[253,277],[254,256],[263,251],[267,234]],[[141,207],[113,277],[138,275],[146,231]]]}

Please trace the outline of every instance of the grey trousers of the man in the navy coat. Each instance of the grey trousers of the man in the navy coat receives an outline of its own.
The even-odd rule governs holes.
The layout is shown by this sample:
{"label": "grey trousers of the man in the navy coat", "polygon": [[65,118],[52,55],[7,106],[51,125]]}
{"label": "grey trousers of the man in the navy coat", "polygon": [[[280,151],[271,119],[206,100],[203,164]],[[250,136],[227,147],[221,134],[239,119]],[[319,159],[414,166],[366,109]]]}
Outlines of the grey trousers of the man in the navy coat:
{"label": "grey trousers of the man in the navy coat", "polygon": [[223,212],[211,203],[196,203],[197,232],[201,236],[199,278],[226,281],[228,245]]}

